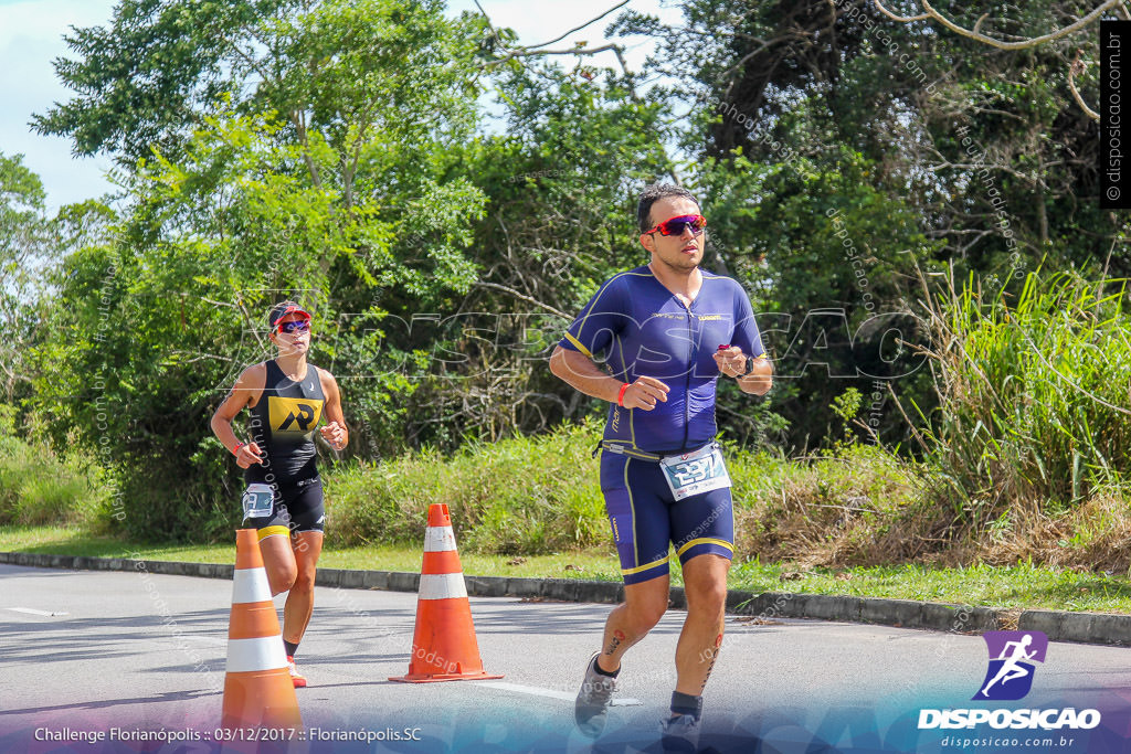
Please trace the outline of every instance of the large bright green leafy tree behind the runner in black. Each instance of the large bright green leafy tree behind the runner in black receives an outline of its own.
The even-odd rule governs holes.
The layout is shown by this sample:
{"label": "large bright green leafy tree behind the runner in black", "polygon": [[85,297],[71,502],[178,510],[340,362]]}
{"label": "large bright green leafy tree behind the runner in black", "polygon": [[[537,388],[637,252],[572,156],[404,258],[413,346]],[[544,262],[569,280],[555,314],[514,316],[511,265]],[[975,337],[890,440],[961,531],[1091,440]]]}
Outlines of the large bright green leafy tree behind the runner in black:
{"label": "large bright green leafy tree behind the runner in black", "polygon": [[[352,452],[371,454],[403,444],[425,346],[394,324],[475,279],[465,250],[483,198],[450,153],[474,124],[480,23],[411,0],[273,7],[248,26],[262,42],[247,63],[262,72],[254,90],[232,87],[187,135],[162,125],[120,174],[111,232],[55,279],[38,400],[59,442],[113,448],[136,536],[231,526],[235,468],[208,416],[243,366],[269,357],[270,304],[296,297],[314,313],[312,361],[348,365]],[[236,67],[231,81],[251,77]],[[126,115],[157,128],[155,112]]]}

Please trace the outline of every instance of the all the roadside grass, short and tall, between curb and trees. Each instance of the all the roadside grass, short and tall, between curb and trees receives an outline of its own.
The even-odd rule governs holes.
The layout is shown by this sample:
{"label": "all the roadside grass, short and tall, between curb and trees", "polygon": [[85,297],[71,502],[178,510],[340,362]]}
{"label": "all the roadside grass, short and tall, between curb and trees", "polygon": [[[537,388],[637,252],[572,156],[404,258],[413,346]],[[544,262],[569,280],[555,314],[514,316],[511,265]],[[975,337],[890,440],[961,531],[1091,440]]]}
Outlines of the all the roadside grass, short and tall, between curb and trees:
{"label": "all the roadside grass, short and tall, between curb and trees", "polygon": [[[951,277],[935,295],[924,278],[915,315],[930,335],[922,355],[939,407],[924,416],[900,404],[917,417],[910,419],[916,454],[860,441],[855,388],[834,401],[843,435],[804,457],[728,443],[724,426],[742,564],[735,586],[1126,609],[1126,283],[1031,272],[1019,291],[1007,292]],[[0,527],[45,527],[11,529],[33,539],[40,535],[28,532],[45,532],[18,546],[227,558],[227,543],[209,546],[204,532],[226,540],[223,532],[239,523],[234,467],[231,494],[198,501],[162,491],[170,515],[201,504],[215,514],[216,526],[200,529],[196,546],[137,547],[112,538],[132,523],[115,509],[120,469],[103,469],[78,449],[52,450],[34,433],[17,436],[15,416],[0,405]],[[593,457],[599,435],[590,419],[468,441],[447,454],[424,448],[377,461],[326,459],[323,563],[416,570],[429,506],[441,503],[467,573],[615,580]],[[804,575],[778,581],[784,572]]]}

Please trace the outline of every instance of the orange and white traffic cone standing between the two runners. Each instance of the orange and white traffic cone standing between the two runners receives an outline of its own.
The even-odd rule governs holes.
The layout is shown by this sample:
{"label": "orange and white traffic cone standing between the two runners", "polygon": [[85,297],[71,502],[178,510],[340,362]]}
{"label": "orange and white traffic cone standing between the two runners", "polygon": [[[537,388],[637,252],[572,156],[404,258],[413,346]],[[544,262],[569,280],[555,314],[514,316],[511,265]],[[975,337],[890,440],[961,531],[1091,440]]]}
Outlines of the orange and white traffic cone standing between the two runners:
{"label": "orange and white traffic cone standing between the two runners", "polygon": [[451,517],[447,505],[433,504],[428,511],[424,564],[416,601],[416,632],[408,675],[389,681],[429,683],[501,677],[483,670]]}

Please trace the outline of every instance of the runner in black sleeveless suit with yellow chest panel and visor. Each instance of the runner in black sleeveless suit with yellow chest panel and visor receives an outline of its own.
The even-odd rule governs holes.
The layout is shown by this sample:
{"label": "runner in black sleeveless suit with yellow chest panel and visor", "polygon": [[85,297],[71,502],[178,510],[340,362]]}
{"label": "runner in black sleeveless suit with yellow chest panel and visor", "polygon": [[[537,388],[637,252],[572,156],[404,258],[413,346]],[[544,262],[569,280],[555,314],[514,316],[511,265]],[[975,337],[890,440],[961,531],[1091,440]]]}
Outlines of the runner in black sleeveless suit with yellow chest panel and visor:
{"label": "runner in black sleeveless suit with yellow chest panel and visor", "polygon": [[[249,366],[235,381],[211,419],[213,432],[244,469],[244,482],[267,485],[271,494],[267,515],[244,520],[259,529],[259,548],[271,596],[290,590],[283,608],[283,644],[296,688],[307,679],[294,656],[314,608],[314,565],[322,552],[326,510],[318,476],[314,427],[325,413],[322,437],[335,450],[349,441],[338,383],[326,370],[307,363],[310,314],[293,301],[275,305],[268,314],[269,338],[278,348],[271,361]],[[232,419],[251,410],[251,441],[243,442]]]}

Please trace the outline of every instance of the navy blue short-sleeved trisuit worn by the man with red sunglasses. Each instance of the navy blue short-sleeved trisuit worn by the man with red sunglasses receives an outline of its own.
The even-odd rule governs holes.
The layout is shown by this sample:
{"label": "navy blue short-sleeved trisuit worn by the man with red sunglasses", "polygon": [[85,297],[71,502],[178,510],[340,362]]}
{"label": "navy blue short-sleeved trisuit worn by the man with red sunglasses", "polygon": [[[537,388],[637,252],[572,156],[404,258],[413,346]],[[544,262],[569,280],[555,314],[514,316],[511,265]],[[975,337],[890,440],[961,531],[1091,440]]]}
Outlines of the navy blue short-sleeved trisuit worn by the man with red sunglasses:
{"label": "navy blue short-sleeved trisuit worn by the man with red sunglasses", "polygon": [[676,501],[658,462],[714,443],[719,346],[766,356],[746,292],[732,278],[700,271],[702,287],[690,307],[648,267],[613,276],[559,344],[603,362],[618,380],[650,376],[670,388],[667,401],[651,410],[612,404],[605,423],[601,489],[625,583],[666,575],[670,546],[681,563],[734,554],[731,488]]}

